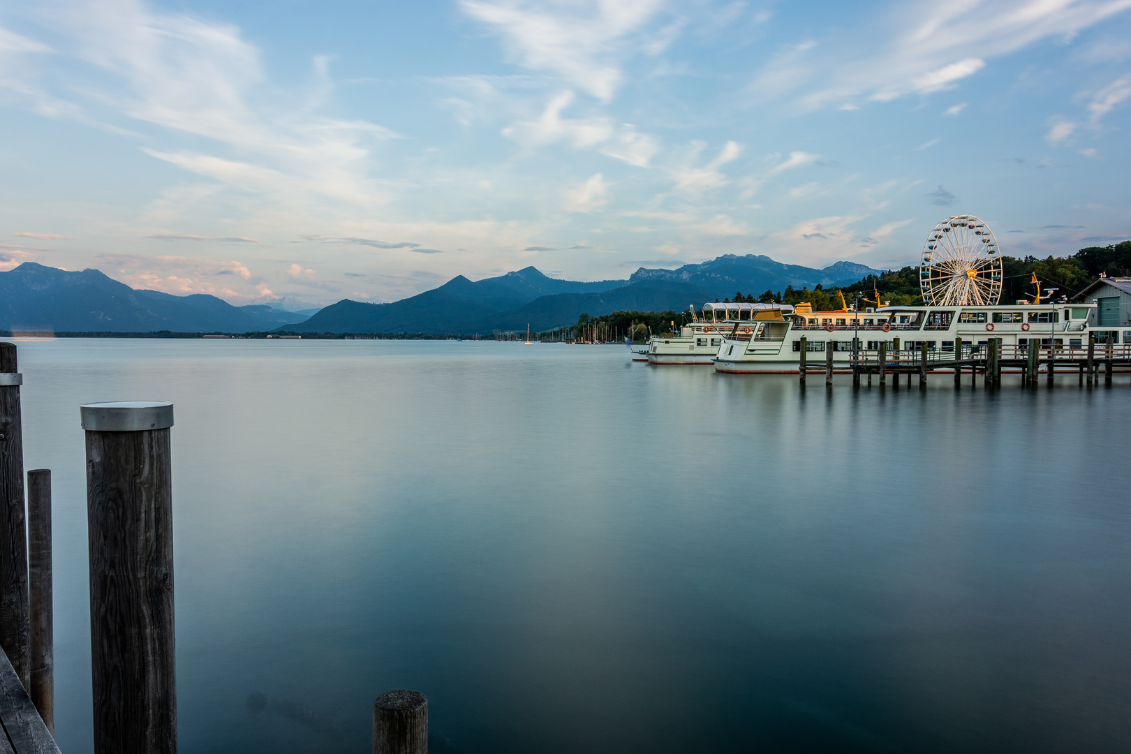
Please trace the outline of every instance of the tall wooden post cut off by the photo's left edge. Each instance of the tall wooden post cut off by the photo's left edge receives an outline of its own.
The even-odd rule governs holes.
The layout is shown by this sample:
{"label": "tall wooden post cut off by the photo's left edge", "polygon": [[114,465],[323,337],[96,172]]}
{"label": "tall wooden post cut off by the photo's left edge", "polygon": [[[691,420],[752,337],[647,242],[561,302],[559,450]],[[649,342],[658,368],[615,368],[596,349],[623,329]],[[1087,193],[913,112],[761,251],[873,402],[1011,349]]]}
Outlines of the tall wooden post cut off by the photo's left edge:
{"label": "tall wooden post cut off by the photo's left edge", "polygon": [[0,647],[29,687],[31,626],[27,597],[27,519],[24,513],[24,432],[16,344],[0,343]]}

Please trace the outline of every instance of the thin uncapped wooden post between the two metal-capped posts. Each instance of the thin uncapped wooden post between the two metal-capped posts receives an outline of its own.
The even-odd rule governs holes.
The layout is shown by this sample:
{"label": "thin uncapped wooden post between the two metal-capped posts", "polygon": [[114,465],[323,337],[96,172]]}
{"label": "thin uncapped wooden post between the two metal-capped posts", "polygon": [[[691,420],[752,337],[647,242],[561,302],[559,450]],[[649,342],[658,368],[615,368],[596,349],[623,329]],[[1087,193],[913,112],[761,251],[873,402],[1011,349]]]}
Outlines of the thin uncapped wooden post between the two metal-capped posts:
{"label": "thin uncapped wooden post between the two metal-capped posts", "polygon": [[32,703],[55,735],[54,623],[51,588],[51,470],[27,473],[27,561],[32,591]]}

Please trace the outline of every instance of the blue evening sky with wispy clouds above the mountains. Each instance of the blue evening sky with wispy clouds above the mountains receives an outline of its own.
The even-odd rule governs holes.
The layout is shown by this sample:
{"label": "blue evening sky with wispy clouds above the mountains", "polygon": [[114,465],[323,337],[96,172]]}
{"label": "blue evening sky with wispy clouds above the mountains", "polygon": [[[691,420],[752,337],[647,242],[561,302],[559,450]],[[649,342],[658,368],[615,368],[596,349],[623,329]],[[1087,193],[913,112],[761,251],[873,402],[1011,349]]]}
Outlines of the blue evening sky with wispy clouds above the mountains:
{"label": "blue evening sky with wispy clouds above the mountains", "polygon": [[1131,236],[1131,0],[0,2],[0,270],[235,304]]}

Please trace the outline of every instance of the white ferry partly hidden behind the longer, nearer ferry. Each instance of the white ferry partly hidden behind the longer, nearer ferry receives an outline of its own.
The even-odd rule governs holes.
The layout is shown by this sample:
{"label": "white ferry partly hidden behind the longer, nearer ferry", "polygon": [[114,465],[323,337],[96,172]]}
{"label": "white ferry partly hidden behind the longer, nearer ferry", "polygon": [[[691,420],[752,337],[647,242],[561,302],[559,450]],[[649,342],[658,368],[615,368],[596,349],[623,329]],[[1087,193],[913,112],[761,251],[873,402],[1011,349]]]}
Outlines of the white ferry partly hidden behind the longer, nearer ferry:
{"label": "white ferry partly hidden behind the longer, nearer ferry", "polygon": [[727,335],[753,332],[754,322],[774,312],[793,312],[788,304],[713,303],[697,313],[691,306],[692,321],[680,329],[679,336],[653,336],[648,341],[649,364],[714,364]]}

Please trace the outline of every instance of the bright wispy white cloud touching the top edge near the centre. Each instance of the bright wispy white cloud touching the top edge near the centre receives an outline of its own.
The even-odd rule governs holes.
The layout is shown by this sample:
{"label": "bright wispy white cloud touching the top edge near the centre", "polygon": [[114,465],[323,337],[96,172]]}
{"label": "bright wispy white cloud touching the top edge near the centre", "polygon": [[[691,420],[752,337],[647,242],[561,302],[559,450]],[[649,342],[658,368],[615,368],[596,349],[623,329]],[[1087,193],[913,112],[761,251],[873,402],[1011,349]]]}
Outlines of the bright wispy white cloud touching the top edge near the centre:
{"label": "bright wispy white cloud touching the top edge near the centre", "polygon": [[[621,60],[631,52],[625,37],[638,32],[661,2],[460,0],[459,5],[469,16],[497,29],[520,64],[552,71],[571,86],[608,102],[621,83]],[[674,29],[667,36],[673,34]],[[666,43],[659,49],[663,46]]]}

